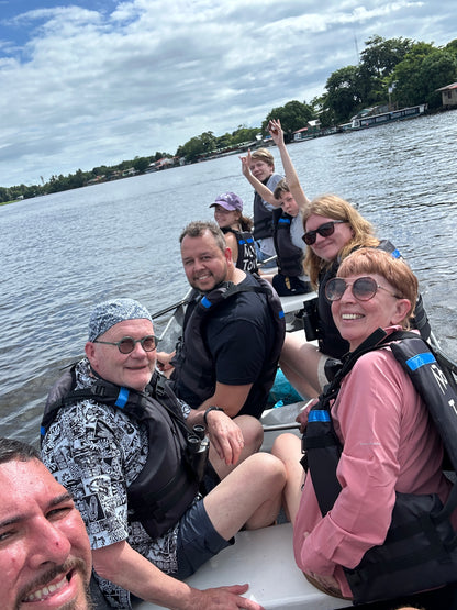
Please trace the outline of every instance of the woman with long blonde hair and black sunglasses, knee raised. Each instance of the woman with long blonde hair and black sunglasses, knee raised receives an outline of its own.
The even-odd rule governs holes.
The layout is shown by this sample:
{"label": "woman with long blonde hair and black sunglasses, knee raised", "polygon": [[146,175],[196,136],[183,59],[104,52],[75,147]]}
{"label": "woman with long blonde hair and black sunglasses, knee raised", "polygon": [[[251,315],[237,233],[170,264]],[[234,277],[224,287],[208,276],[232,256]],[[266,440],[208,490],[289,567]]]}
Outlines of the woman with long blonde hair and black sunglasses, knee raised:
{"label": "woman with long blonde hair and black sunglasses, knee raised", "polygon": [[354,206],[336,195],[316,197],[306,206],[303,229],[308,245],[303,268],[317,289],[317,299],[305,303],[306,339],[316,339],[317,346],[303,341],[301,333],[289,333],[280,366],[303,397],[315,397],[330,380],[332,359],[341,358],[349,348],[325,299],[327,282],[336,276],[342,260],[360,247],[384,249],[393,257],[401,255],[390,242],[375,235],[372,224]]}

